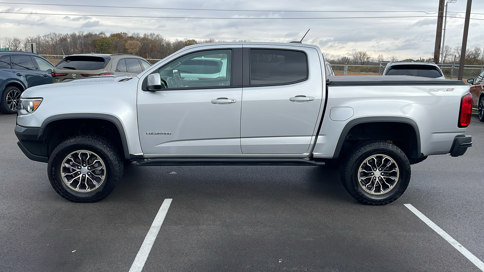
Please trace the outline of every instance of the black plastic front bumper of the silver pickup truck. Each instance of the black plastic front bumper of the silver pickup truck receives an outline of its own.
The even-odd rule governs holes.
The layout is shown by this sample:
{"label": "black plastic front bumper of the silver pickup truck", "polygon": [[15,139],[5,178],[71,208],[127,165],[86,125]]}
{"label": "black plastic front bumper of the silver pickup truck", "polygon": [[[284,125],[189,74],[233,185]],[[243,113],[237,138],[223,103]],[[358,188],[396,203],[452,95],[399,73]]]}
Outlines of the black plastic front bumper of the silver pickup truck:
{"label": "black plastic front bumper of the silver pickup truck", "polygon": [[16,125],[15,135],[18,138],[17,145],[22,152],[32,161],[48,162],[47,143],[42,137],[43,129],[30,128]]}

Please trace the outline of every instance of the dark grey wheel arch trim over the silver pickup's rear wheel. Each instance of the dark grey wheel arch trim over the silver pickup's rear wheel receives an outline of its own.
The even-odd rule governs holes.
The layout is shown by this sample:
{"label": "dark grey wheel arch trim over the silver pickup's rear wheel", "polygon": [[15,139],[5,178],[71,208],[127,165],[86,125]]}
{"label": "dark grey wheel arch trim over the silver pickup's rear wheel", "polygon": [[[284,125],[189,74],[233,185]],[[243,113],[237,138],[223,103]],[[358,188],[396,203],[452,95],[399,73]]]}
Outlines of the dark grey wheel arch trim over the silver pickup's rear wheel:
{"label": "dark grey wheel arch trim over the silver pickup's rear wheel", "polygon": [[345,142],[346,136],[348,135],[348,132],[351,130],[351,128],[353,128],[355,125],[358,125],[358,124],[374,123],[374,122],[395,122],[395,123],[406,123],[411,125],[415,130],[415,134],[417,136],[417,154],[419,155],[419,157],[423,156],[423,154],[420,151],[420,131],[415,121],[413,121],[410,118],[401,117],[401,116],[372,116],[372,117],[361,117],[361,118],[353,119],[345,125],[345,127],[343,128],[343,131],[341,132],[341,135],[339,136],[338,143],[336,144],[336,149],[334,150],[334,153],[333,153],[333,159],[337,159],[339,157],[339,153],[341,151],[341,148],[343,147],[343,143]]}

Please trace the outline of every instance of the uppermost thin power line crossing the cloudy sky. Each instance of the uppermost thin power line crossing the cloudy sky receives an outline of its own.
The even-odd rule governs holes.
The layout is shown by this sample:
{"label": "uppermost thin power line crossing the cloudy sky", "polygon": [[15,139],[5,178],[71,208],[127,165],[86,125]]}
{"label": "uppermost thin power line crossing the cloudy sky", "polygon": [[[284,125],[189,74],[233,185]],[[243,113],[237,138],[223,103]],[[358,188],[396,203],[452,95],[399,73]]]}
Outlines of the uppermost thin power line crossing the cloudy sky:
{"label": "uppermost thin power line crossing the cloudy sky", "polygon": [[68,7],[96,7],[96,8],[128,8],[128,9],[159,9],[159,10],[188,10],[188,11],[242,11],[242,12],[420,12],[426,14],[436,14],[437,12],[426,11],[335,11],[335,10],[220,10],[220,9],[187,9],[187,8],[158,8],[158,7],[126,7],[126,6],[97,6],[97,5],[72,5],[72,4],[45,4],[45,3],[15,3],[0,2],[0,4],[16,5],[43,5],[43,6],[68,6]]}

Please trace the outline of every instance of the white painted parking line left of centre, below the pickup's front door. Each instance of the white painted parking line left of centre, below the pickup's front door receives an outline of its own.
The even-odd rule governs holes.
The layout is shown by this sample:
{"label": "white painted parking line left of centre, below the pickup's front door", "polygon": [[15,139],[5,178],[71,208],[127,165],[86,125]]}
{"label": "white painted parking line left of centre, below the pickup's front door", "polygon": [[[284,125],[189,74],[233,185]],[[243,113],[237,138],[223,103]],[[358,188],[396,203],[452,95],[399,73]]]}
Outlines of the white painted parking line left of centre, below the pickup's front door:
{"label": "white painted parking line left of centre, below the pickup's front door", "polygon": [[143,241],[143,244],[141,244],[129,272],[141,272],[141,270],[143,270],[143,266],[145,266],[146,259],[150,254],[154,240],[160,231],[161,224],[163,224],[163,220],[165,220],[166,212],[168,212],[168,208],[170,208],[171,200],[172,198],[166,198],[165,201],[163,201],[163,204],[161,204],[160,210],[158,210],[158,213],[153,220],[153,224],[151,224],[150,230],[148,230],[145,240]]}

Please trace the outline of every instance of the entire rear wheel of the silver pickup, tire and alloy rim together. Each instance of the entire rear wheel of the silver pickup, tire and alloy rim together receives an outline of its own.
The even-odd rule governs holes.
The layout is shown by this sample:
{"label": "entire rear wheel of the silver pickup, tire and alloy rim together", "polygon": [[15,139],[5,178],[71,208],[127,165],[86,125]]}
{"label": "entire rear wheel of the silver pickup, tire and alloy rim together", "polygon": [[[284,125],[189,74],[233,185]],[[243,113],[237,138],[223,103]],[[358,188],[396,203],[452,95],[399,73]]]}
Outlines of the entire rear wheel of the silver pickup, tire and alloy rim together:
{"label": "entire rear wheel of the silver pickup, tire and alloy rim together", "polygon": [[340,167],[345,189],[367,205],[395,201],[407,189],[410,174],[405,153],[386,141],[357,144]]}

